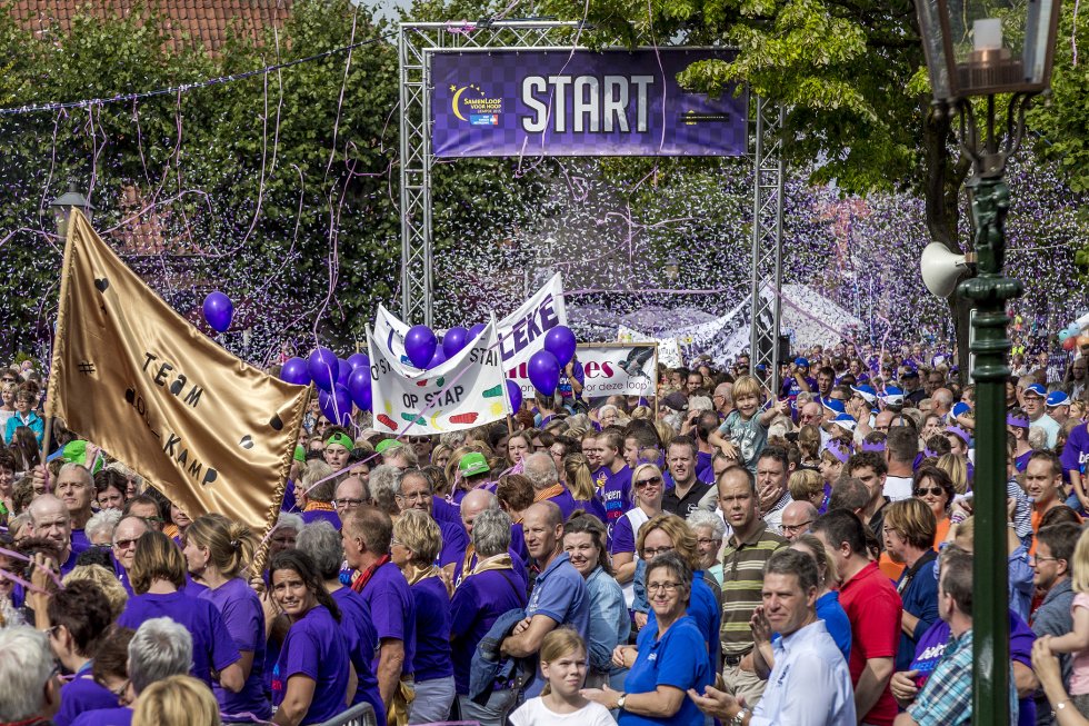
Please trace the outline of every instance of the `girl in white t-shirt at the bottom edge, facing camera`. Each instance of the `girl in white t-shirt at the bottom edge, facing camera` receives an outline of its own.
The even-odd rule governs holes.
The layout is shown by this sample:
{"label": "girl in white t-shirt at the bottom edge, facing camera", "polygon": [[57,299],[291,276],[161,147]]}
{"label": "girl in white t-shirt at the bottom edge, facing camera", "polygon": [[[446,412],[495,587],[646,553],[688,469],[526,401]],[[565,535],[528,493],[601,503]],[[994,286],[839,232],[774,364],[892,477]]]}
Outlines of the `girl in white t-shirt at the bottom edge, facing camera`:
{"label": "girl in white t-shirt at the bottom edge, facing camera", "polygon": [[510,715],[513,726],[616,726],[605,706],[582,697],[587,650],[578,633],[568,627],[552,630],[541,643],[540,657],[548,684]]}

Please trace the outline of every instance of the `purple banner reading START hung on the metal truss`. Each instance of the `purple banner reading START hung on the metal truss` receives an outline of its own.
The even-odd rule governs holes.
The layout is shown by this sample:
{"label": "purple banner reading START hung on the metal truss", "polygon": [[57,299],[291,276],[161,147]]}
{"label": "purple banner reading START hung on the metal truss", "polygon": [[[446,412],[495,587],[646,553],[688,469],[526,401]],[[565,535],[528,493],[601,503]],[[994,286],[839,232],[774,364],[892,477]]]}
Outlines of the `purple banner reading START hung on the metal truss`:
{"label": "purple banner reading START hung on the metal truss", "polygon": [[741,156],[748,97],[693,93],[677,73],[733,51],[431,53],[437,157]]}

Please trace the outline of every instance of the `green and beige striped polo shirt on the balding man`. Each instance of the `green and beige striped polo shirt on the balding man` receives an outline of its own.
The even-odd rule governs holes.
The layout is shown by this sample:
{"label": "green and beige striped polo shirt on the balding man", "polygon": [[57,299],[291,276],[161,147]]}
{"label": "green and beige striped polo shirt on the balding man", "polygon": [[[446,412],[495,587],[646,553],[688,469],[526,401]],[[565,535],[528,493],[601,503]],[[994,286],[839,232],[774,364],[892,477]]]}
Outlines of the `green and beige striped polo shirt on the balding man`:
{"label": "green and beige striped polo shirt on the balding man", "polygon": [[763,566],[771,553],[787,540],[760,523],[747,540],[730,537],[722,549],[722,626],[719,635],[723,655],[743,655],[752,649],[749,619],[762,601]]}

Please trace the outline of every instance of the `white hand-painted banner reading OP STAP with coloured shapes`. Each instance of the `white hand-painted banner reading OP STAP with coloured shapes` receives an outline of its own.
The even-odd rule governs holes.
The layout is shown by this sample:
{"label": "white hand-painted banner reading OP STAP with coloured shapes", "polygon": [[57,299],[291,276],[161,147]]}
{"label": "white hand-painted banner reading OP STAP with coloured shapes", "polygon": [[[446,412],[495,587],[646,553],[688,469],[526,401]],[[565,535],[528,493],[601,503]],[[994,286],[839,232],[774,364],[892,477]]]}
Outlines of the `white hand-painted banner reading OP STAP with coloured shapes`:
{"label": "white hand-painted banner reading OP STAP with coloured shapes", "polygon": [[403,366],[373,332],[368,339],[379,431],[444,434],[500,421],[512,412],[494,319],[456,356],[430,370]]}

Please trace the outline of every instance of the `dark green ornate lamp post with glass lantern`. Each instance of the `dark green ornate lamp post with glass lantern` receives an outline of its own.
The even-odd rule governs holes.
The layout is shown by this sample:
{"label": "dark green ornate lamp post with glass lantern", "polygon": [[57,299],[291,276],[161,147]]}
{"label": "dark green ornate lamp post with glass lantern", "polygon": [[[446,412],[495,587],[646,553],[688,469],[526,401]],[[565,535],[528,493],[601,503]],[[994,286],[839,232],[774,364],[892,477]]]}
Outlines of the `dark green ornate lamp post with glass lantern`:
{"label": "dark green ornate lamp post with glass lantern", "polygon": [[[1012,344],[1006,302],[1020,281],[1005,277],[1007,159],[1025,132],[1029,100],[1051,81],[1060,0],[917,0],[933,88],[935,113],[960,113],[961,152],[972,161],[975,275],[957,286],[972,306],[976,381],[975,561],[972,571],[972,722],[1008,724],[1009,565],[1006,514],[1006,381]],[[1005,138],[995,129],[995,96],[1010,93]],[[971,97],[986,97],[982,135]],[[931,250],[931,258],[933,251]],[[923,265],[926,267],[926,265]],[[945,292],[945,290],[942,290]],[[948,295],[948,292],[946,292]]]}

